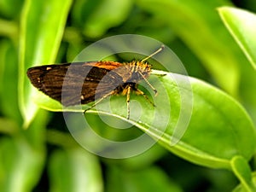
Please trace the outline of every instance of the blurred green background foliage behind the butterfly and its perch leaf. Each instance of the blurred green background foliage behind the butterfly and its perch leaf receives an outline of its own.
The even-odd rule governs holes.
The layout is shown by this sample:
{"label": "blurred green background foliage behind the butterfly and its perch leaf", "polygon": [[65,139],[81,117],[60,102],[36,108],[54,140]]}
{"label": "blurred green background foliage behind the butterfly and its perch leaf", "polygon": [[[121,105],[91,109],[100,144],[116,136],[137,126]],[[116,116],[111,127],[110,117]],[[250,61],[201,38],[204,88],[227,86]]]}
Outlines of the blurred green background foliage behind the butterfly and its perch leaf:
{"label": "blurred green background foliage behind the butterfly and its perch leaf", "polygon": [[[22,104],[29,100],[22,87],[27,67],[73,61],[101,38],[131,33],[166,44],[189,76],[235,97],[255,123],[255,73],[218,15],[225,5],[256,12],[253,0],[0,0],[0,191],[234,189],[238,181],[231,172],[195,166],[158,145],[126,160],[97,157],[73,140],[62,113],[26,111]],[[24,129],[27,113],[31,122]],[[105,129],[96,115],[88,117]],[[125,138],[113,130],[102,134],[124,140],[139,132],[134,128]]]}

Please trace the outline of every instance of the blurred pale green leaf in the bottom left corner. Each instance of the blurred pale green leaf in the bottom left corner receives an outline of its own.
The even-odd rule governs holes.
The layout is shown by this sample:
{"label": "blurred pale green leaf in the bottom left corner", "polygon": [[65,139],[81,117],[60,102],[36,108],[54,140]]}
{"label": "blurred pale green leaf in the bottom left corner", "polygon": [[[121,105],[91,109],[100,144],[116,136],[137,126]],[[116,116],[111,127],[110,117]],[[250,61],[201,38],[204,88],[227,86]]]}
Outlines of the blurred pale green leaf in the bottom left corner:
{"label": "blurred pale green leaf in the bottom left corner", "polygon": [[31,191],[44,162],[23,139],[5,137],[0,143],[1,191]]}

